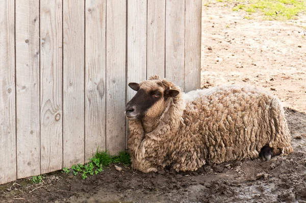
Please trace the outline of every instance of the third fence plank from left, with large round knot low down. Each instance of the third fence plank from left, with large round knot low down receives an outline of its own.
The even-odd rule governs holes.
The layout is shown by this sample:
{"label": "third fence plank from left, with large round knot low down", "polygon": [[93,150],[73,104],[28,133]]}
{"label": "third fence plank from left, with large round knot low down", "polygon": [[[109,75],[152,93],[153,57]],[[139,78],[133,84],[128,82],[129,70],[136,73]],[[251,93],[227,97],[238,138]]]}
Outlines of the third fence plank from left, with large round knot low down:
{"label": "third fence plank from left, with large round knot low down", "polygon": [[40,1],[41,173],[63,168],[62,1]]}

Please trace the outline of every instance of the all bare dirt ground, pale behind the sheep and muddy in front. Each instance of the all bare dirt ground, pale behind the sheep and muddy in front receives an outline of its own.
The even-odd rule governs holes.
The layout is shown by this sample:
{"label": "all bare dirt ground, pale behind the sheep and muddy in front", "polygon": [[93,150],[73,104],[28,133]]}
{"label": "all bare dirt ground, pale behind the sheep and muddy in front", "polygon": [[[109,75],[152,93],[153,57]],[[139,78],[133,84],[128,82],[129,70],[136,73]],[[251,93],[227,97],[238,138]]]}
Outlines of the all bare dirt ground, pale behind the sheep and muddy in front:
{"label": "all bare dirt ground, pale behind the sheep and muddy in front", "polygon": [[[306,15],[298,20],[246,20],[234,4],[203,6],[202,84],[252,84],[286,108],[294,153],[204,166],[196,172],[144,174],[124,167],[98,175],[59,171],[43,183],[0,186],[0,202],[306,202]],[[305,36],[305,37],[303,37]]]}

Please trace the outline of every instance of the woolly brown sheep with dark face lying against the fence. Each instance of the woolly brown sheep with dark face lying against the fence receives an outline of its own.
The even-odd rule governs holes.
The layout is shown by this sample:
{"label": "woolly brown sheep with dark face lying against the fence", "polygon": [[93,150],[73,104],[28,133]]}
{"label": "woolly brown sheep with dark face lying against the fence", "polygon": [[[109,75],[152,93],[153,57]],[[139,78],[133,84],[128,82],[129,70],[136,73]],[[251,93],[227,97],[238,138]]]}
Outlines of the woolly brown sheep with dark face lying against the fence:
{"label": "woolly brown sheep with dark face lying against the fence", "polygon": [[281,102],[263,90],[232,85],[184,93],[158,75],[129,86],[137,93],[125,109],[128,146],[132,167],[144,173],[293,151]]}

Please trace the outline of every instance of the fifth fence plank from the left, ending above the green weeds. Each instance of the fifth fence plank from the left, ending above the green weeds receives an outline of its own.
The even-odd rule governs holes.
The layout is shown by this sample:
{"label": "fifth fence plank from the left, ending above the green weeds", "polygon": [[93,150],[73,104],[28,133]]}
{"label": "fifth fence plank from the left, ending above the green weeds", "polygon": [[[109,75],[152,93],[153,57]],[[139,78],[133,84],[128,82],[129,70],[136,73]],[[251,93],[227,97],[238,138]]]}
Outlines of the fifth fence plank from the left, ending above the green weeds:
{"label": "fifth fence plank from the left, ending above the green weeds", "polygon": [[106,0],[86,1],[85,162],[105,150]]}

